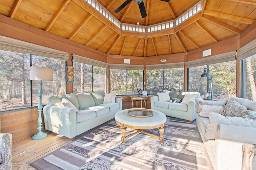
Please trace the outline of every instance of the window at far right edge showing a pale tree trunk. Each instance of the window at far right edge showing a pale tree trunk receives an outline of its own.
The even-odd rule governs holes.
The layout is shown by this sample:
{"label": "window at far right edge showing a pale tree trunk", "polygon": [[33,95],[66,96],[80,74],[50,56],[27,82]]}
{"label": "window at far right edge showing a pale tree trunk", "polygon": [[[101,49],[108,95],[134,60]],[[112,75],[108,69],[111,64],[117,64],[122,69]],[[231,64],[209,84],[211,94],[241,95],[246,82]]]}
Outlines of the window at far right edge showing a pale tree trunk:
{"label": "window at far right edge showing a pale tree trunk", "polygon": [[244,98],[256,101],[256,54],[244,59]]}

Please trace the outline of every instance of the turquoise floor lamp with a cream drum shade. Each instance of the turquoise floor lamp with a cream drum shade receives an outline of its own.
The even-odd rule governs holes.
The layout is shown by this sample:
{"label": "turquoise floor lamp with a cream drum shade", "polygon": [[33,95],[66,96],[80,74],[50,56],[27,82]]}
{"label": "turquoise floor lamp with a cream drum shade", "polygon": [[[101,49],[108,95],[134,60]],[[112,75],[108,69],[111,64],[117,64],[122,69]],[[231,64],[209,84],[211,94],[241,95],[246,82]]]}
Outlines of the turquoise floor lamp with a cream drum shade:
{"label": "turquoise floor lamp with a cream drum shade", "polygon": [[52,81],[53,78],[53,69],[52,68],[46,68],[46,67],[30,67],[30,80],[40,80],[39,84],[39,103],[38,103],[38,133],[32,137],[33,140],[40,140],[47,137],[47,133],[42,132],[42,80],[49,80]]}

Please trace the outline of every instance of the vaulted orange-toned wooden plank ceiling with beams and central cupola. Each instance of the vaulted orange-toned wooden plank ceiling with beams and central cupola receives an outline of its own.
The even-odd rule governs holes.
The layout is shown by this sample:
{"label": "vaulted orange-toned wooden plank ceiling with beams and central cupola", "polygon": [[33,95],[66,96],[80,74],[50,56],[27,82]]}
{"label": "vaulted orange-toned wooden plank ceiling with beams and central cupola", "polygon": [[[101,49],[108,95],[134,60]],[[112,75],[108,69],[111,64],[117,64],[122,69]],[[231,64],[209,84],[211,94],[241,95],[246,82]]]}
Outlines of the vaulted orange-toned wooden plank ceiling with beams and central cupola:
{"label": "vaulted orange-toned wooden plank ceiling with beams and central cupola", "polygon": [[[95,0],[96,1],[96,0]],[[98,0],[121,23],[150,26],[172,21],[199,0],[144,0],[148,16],[125,0]],[[240,34],[256,20],[255,0],[204,0],[201,12],[174,28],[124,31],[84,0],[1,0],[0,14],[106,54],[149,57],[184,53]],[[138,17],[139,16],[139,17]]]}

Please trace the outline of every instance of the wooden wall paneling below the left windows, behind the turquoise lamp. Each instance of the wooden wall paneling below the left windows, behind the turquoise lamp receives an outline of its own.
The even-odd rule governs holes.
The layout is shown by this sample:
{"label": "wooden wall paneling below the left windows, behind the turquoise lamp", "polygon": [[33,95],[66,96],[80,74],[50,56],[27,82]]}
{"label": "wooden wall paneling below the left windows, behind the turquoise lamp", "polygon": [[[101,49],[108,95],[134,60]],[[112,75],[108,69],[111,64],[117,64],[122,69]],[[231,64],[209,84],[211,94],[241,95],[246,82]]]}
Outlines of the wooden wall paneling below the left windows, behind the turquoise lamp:
{"label": "wooden wall paneling below the left windows, behind the turquoise lamp", "polygon": [[[12,133],[12,142],[35,135],[37,130],[38,108],[1,114],[1,133]],[[42,114],[42,131],[45,131]]]}

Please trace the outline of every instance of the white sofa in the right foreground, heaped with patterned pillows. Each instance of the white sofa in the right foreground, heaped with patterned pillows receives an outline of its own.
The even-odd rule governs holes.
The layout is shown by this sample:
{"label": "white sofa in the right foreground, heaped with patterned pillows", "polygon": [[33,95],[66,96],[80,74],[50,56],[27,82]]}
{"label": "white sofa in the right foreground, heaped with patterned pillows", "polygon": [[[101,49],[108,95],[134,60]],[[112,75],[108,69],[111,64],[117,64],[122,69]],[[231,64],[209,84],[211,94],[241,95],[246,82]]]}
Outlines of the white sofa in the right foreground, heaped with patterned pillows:
{"label": "white sofa in the right foreground, heaped with patterned pillows", "polygon": [[[246,107],[248,111],[256,110],[256,102],[254,101],[237,97],[232,97],[229,101],[232,100],[241,104],[236,108],[242,107],[244,109]],[[209,104],[207,109],[210,111],[210,107],[216,110],[214,106],[219,107],[219,105],[224,105],[224,109],[227,109],[226,106],[228,104],[226,102],[228,101],[204,101],[204,104]],[[202,105],[200,107],[202,109]],[[197,113],[196,123],[198,130],[215,170],[242,170],[243,144],[256,144],[256,117],[254,117],[256,115],[253,115],[251,119],[244,118],[248,117],[248,115],[243,117],[236,108],[234,106],[230,110],[229,113],[231,115],[229,116],[226,116],[225,113],[228,113],[228,111],[225,112],[225,110],[223,110],[223,113],[210,111],[208,116],[205,114],[206,112],[201,114],[200,109]],[[237,112],[235,114],[241,117],[232,116],[232,112]],[[253,162],[254,168],[256,168],[255,159]]]}

